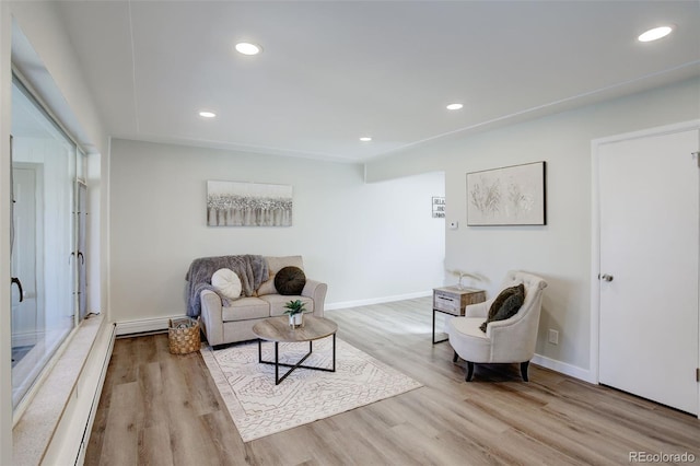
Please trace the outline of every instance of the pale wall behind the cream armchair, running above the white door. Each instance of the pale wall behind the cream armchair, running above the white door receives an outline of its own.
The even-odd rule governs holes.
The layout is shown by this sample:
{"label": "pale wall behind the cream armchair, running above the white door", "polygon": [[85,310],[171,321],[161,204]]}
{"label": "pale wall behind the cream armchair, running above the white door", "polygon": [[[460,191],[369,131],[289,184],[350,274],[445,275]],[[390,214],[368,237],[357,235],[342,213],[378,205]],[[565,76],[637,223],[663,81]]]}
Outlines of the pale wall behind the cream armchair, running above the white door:
{"label": "pale wall behind the cream armchair, running above the white door", "polygon": [[[553,365],[587,377],[591,368],[591,141],[596,138],[698,118],[700,81],[592,105],[536,120],[466,135],[368,164],[368,179],[430,171],[446,176],[448,263],[487,281],[490,294],[509,269],[542,275],[545,292],[537,353]],[[466,226],[466,173],[547,162],[547,225]],[[546,341],[559,330],[559,345]]]}

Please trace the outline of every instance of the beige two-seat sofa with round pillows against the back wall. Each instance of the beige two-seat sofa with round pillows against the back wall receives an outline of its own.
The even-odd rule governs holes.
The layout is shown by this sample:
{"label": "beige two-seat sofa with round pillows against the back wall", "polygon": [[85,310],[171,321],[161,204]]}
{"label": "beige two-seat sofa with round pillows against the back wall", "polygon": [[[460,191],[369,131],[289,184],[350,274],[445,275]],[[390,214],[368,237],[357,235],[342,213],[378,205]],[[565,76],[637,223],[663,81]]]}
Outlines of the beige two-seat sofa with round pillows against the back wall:
{"label": "beige two-seat sofa with round pillows against the back wall", "polygon": [[[280,294],[275,287],[275,276],[282,268],[299,267],[302,270],[304,269],[302,256],[222,256],[205,259],[217,260],[215,264],[226,264],[226,259],[237,259],[240,257],[253,258],[253,267],[249,264],[244,267],[249,276],[247,283],[245,270],[243,272],[234,270],[237,275],[243,276],[244,286],[241,298],[228,300],[206,282],[202,282],[199,287],[197,287],[197,283],[191,283],[191,278],[195,276],[191,267],[187,276],[188,282],[190,282],[190,300],[199,300],[198,303],[191,303],[188,314],[196,317],[197,311],[192,308],[199,307],[202,331],[209,345],[214,349],[221,345],[256,339],[253,326],[264,318],[283,315],[285,311],[284,304],[290,301],[301,300],[305,304],[307,313],[323,317],[324,302],[328,290],[326,283],[306,278],[300,295]],[[260,260],[264,260],[264,264],[259,264]],[[192,265],[195,264],[192,263]],[[260,273],[264,276],[258,277]],[[202,280],[201,277],[200,275],[199,280]],[[209,277],[209,282],[211,282],[211,276]]]}

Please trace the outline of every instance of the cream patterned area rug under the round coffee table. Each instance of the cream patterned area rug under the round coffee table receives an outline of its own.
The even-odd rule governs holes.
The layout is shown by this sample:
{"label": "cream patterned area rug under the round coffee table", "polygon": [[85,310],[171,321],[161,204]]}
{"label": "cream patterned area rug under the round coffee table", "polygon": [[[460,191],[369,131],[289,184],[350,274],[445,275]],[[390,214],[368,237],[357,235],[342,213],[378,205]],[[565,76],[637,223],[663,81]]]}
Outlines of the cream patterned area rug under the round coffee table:
{"label": "cream patterned area rug under the round coffee table", "polygon": [[[308,343],[280,343],[280,362],[296,363]],[[257,342],[201,354],[244,442],[292,429],[421,386],[340,339],[336,372],[296,369],[275,385],[275,366],[258,363]],[[262,360],[275,360],[275,345],[262,342]],[[304,365],[330,368],[332,339],[314,341]],[[280,376],[288,368],[280,366]]]}

